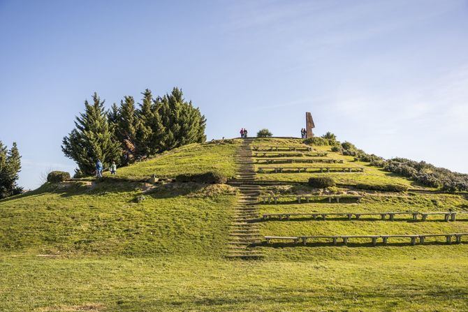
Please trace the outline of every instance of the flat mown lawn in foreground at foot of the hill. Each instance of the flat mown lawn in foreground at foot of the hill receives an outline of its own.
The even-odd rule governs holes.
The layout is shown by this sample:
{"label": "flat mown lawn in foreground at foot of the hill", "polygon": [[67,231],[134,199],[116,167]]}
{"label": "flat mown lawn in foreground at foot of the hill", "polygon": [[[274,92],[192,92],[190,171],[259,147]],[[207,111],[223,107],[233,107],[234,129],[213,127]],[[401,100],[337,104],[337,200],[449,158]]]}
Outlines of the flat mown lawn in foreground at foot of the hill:
{"label": "flat mown lawn in foreground at foot of the hill", "polygon": [[257,262],[3,255],[0,310],[467,311],[466,245],[383,249]]}

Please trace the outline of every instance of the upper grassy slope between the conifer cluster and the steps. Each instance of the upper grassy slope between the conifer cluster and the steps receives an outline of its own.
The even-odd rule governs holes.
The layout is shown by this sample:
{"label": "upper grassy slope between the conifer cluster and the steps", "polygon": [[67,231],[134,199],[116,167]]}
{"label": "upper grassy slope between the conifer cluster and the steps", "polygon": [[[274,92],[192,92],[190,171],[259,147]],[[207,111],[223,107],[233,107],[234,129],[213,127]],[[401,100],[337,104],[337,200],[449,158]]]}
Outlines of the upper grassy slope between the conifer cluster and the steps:
{"label": "upper grassy slope between the conifer cluster and the steps", "polygon": [[[117,178],[146,180],[156,177],[173,178],[180,173],[219,172],[226,177],[235,175],[234,152],[240,140],[224,140],[189,144],[173,149],[147,161],[117,170]],[[108,173],[105,175],[109,175]]]}

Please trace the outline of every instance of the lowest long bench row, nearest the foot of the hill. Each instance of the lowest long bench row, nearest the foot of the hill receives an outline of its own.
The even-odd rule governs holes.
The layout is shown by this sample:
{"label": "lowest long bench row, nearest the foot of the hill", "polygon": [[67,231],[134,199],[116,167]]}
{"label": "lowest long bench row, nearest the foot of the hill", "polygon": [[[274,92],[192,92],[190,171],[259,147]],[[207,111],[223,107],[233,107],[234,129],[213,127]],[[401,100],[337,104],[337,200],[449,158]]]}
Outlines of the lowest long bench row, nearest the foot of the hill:
{"label": "lowest long bench row, nearest the foot of the hill", "polygon": [[333,245],[337,245],[338,239],[342,239],[344,245],[348,244],[349,239],[370,239],[372,246],[376,246],[378,239],[382,239],[382,244],[388,244],[388,239],[393,238],[409,238],[411,245],[416,245],[416,240],[419,239],[420,244],[424,244],[427,237],[445,237],[446,243],[451,244],[452,239],[455,238],[455,242],[460,244],[462,237],[468,236],[468,233],[453,233],[453,234],[423,234],[423,235],[316,235],[316,236],[292,236],[292,237],[281,237],[281,236],[265,236],[267,244],[270,244],[272,240],[277,241],[292,241],[294,244],[302,242],[303,245],[307,244],[307,240],[318,240],[318,239],[331,239]]}

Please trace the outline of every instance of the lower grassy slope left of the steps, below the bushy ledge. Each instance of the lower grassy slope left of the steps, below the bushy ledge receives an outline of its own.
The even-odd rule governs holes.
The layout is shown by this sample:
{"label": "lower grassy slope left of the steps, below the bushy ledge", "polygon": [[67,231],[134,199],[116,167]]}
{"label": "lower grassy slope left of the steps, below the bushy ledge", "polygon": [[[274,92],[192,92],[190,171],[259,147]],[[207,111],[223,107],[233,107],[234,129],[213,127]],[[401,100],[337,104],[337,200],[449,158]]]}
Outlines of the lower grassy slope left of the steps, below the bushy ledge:
{"label": "lower grassy slope left of the steps, below the bushy ledge", "polygon": [[[0,251],[97,255],[211,255],[226,248],[235,203],[221,186],[77,186],[0,202]],[[218,189],[219,188],[219,189]],[[228,188],[226,186],[226,188]],[[214,189],[214,191],[213,191]],[[145,200],[134,202],[144,193]],[[32,251],[31,251],[32,252]]]}

